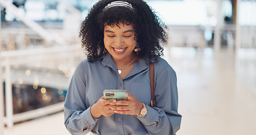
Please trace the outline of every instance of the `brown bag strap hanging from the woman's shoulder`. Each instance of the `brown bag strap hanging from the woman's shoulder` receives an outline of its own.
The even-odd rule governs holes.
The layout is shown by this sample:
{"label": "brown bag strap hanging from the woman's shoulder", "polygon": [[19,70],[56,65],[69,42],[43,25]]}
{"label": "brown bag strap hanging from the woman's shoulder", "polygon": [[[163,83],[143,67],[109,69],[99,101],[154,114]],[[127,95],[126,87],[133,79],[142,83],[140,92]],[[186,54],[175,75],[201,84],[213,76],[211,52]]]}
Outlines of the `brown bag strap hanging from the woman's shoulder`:
{"label": "brown bag strap hanging from the woman's shoulder", "polygon": [[150,88],[151,88],[151,107],[156,107],[155,102],[155,71],[154,63],[149,64],[149,78],[150,78]]}

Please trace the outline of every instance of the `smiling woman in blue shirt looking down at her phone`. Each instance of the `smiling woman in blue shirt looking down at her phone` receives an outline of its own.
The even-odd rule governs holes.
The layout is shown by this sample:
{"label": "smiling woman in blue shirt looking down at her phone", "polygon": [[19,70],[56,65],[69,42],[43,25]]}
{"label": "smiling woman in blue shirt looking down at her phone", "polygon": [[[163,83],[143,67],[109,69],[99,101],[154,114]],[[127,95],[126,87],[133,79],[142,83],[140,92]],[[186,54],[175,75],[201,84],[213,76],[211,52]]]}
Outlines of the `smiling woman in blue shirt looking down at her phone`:
{"label": "smiling woman in blue shirt looking down at her phone", "polygon": [[[66,95],[71,134],[175,134],[176,73],[160,56],[166,26],[142,0],[102,0],[82,22],[87,59],[77,66]],[[150,107],[149,63],[155,66],[156,107]],[[127,100],[105,100],[105,89],[125,89]]]}

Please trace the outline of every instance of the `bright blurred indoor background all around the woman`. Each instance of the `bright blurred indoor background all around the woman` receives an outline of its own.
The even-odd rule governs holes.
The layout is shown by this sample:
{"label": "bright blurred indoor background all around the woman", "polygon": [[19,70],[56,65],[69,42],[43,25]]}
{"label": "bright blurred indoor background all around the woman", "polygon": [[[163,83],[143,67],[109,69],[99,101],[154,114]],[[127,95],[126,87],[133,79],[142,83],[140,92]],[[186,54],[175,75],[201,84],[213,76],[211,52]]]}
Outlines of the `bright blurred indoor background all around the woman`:
{"label": "bright blurred indoor background all around the woman", "polygon": [[[69,134],[64,100],[94,0],[0,0],[0,135]],[[169,28],[184,134],[256,134],[256,1],[147,0]]]}

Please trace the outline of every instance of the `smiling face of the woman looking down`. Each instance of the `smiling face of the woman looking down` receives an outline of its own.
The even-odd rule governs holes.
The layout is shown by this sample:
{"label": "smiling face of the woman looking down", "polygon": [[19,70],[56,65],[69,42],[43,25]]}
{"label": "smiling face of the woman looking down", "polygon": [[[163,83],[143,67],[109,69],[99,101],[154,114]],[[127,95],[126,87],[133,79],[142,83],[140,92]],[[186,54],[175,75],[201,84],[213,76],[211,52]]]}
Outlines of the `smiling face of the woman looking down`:
{"label": "smiling face of the woman looking down", "polygon": [[131,60],[134,59],[134,48],[137,41],[133,25],[115,24],[104,27],[104,44],[106,50],[114,60]]}

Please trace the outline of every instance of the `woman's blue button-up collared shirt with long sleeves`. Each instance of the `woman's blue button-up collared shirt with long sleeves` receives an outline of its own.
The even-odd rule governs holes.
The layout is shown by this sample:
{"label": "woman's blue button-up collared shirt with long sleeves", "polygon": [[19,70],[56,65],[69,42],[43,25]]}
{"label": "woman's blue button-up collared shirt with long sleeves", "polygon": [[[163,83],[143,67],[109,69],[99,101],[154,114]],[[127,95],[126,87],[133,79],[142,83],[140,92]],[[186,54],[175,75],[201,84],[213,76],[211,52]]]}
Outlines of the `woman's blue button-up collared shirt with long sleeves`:
{"label": "woman's blue button-up collared shirt with long sleeves", "polygon": [[[140,59],[124,79],[119,76],[109,53],[93,63],[87,59],[81,61],[73,74],[65,99],[65,126],[68,131],[71,134],[92,131],[104,135],[176,133],[181,124],[181,115],[177,113],[176,73],[160,57],[154,61],[154,68],[157,107],[150,107],[149,64],[145,60]],[[146,104],[146,116],[114,114],[93,118],[91,106],[103,96],[105,89],[125,89]],[[84,127],[88,128],[83,130]]]}

